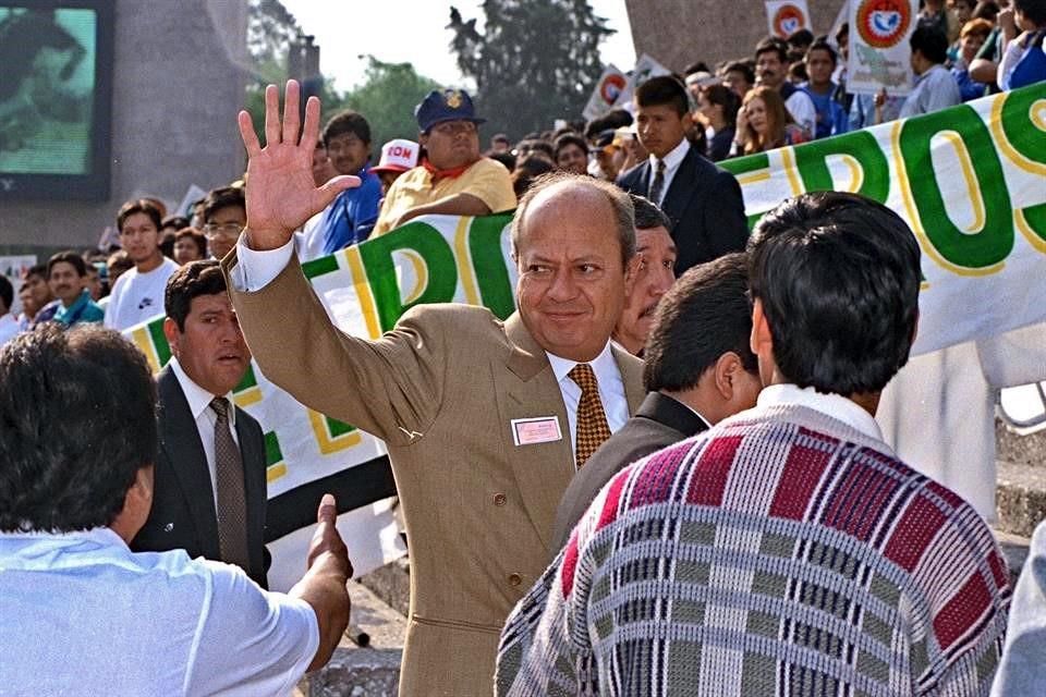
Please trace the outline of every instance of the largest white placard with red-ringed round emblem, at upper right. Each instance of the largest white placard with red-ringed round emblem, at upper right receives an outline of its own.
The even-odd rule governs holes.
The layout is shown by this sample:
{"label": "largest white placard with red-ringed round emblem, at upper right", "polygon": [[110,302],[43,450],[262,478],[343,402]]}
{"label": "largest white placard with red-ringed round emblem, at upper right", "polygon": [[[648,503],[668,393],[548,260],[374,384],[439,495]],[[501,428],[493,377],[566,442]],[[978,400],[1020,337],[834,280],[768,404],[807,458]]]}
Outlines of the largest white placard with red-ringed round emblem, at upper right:
{"label": "largest white placard with red-ringed round emblem, at upper right", "polygon": [[911,47],[919,0],[852,0],[847,90],[890,97],[912,90]]}

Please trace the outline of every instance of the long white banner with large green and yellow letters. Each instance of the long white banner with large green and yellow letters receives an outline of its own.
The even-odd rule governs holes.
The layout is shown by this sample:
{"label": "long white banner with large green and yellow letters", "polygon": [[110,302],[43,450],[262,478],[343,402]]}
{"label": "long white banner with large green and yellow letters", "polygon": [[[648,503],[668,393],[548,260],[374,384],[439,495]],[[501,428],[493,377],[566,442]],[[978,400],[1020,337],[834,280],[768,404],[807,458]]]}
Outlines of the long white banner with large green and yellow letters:
{"label": "long white banner with large green and yellow letters", "polygon": [[[738,176],[752,224],[784,198],[825,189],[898,211],[923,250],[913,354],[1046,321],[1046,83],[722,164]],[[333,321],[361,337],[380,335],[421,303],[484,305],[504,318],[516,280],[509,222],[423,217],[303,269]],[[160,325],[127,332],[154,369],[170,356]],[[325,490],[338,496],[357,573],[402,553],[381,502],[393,489],[380,441],[307,409],[256,367],[234,398],[265,431],[270,537],[284,537],[271,546],[273,577],[300,575],[307,535],[295,530]],[[292,538],[299,551],[289,553]]]}

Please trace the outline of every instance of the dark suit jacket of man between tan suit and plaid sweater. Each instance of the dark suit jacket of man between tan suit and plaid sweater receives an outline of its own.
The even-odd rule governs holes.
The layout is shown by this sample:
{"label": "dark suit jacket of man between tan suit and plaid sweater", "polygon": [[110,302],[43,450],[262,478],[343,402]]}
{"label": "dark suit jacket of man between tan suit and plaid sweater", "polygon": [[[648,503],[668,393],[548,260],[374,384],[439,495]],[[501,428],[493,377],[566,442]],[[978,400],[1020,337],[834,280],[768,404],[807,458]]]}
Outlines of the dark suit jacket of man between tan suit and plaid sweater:
{"label": "dark suit jacket of man between tan suit and plaid sweater", "polygon": [[577,521],[599,490],[633,462],[695,436],[708,428],[704,419],[685,404],[650,392],[621,429],[592,454],[574,476],[556,511],[552,528],[552,558],[567,545]]}

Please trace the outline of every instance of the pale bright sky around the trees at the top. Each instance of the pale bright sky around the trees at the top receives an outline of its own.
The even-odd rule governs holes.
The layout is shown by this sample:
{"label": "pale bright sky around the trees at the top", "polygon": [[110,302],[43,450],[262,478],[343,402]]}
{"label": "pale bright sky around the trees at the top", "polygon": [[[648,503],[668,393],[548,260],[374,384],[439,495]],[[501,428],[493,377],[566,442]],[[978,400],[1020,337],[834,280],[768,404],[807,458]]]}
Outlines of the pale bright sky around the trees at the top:
{"label": "pale bright sky around the trees at the top", "polygon": [[[443,27],[450,7],[466,20],[478,16],[477,0],[282,0],[305,34],[319,45],[319,70],[335,80],[335,88],[346,90],[363,82],[365,57],[399,63],[410,62],[426,77],[449,86],[463,81],[450,51],[453,33]],[[589,0],[598,16],[617,34],[600,49],[604,63],[629,70],[635,63],[632,33],[624,0]]]}

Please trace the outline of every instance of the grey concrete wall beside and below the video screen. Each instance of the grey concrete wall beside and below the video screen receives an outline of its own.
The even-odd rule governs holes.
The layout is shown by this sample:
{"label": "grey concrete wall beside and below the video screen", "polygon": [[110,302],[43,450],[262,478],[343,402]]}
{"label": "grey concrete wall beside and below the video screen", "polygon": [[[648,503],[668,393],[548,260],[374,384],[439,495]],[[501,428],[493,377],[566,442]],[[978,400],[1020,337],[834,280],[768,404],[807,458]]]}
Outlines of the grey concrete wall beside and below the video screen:
{"label": "grey concrete wall beside and below the video screen", "polygon": [[94,246],[129,198],[241,176],[246,1],[117,0],[109,200],[0,203],[0,253]]}

